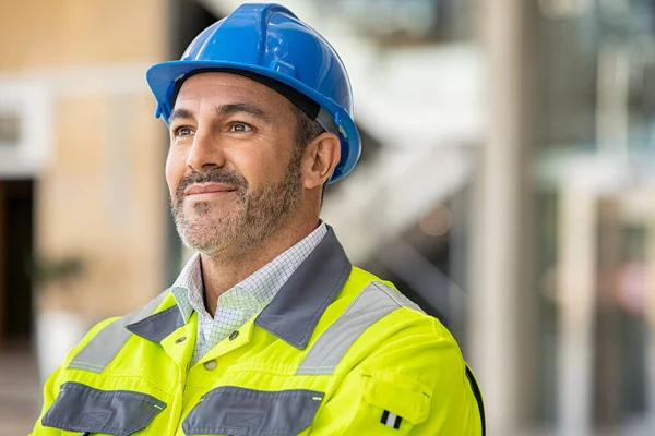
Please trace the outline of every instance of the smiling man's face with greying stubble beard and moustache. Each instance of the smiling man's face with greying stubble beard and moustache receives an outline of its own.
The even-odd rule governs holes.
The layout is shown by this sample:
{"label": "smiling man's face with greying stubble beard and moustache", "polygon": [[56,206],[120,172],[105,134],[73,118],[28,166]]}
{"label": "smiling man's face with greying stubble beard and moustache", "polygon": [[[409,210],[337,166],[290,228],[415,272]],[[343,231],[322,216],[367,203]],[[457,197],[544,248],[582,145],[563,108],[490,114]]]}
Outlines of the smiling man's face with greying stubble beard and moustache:
{"label": "smiling man's face with greying stubble beard and moustache", "polygon": [[284,227],[302,194],[295,131],[289,102],[258,82],[219,72],[184,82],[166,161],[184,244],[239,255]]}

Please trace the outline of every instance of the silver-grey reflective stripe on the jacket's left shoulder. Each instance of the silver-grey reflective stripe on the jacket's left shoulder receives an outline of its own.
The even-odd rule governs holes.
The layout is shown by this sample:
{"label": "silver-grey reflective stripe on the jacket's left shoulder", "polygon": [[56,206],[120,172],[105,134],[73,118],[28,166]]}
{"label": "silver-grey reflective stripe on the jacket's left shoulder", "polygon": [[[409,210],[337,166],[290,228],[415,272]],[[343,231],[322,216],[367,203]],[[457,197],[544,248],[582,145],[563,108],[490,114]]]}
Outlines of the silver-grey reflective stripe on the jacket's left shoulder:
{"label": "silver-grey reflective stripe on the jacket's left shoulder", "polygon": [[102,373],[128,341],[130,335],[132,335],[126,329],[126,326],[152,314],[155,308],[162,304],[167,292],[168,290],[162,292],[156,299],[141,310],[116,319],[114,323],[98,331],[97,335],[94,336],[94,338],[88,341],[78,354],[75,354],[68,367]]}

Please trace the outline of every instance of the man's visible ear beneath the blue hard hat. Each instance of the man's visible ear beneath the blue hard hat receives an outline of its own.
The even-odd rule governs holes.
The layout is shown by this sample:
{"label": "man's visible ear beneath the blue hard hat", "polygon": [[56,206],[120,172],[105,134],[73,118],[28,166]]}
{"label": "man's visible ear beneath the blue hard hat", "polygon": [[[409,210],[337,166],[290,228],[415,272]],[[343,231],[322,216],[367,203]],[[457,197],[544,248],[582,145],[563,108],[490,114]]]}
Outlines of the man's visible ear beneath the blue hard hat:
{"label": "man's visible ear beneath the blue hard hat", "polygon": [[305,148],[302,184],[311,190],[323,185],[341,159],[341,142],[334,133],[321,133]]}

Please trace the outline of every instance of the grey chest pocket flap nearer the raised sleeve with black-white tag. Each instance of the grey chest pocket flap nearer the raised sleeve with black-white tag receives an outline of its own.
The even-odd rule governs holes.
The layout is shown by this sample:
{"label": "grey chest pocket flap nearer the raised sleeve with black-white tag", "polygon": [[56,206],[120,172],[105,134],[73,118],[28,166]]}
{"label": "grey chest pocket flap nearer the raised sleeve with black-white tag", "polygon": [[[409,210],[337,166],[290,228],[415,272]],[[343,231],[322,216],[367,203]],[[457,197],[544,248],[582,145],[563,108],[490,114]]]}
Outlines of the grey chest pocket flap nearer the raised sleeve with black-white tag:
{"label": "grey chest pocket flap nearer the raised sleeve with black-white tag", "polygon": [[187,435],[287,436],[309,427],[323,393],[223,386],[209,391],[182,423]]}

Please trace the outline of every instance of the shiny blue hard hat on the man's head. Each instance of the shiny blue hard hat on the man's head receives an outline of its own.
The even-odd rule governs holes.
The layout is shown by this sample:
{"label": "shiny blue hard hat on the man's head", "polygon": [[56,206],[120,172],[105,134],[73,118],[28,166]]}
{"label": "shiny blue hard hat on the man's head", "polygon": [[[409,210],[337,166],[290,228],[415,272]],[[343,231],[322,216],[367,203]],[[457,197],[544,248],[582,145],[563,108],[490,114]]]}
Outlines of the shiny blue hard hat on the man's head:
{"label": "shiny blue hard hat on the man's head", "polygon": [[152,66],[146,78],[157,100],[155,117],[168,123],[181,83],[217,70],[264,83],[338,134],[341,160],[330,183],[355,168],[361,140],[346,69],[327,40],[291,11],[279,4],[242,4],[198,35],[179,61]]}

